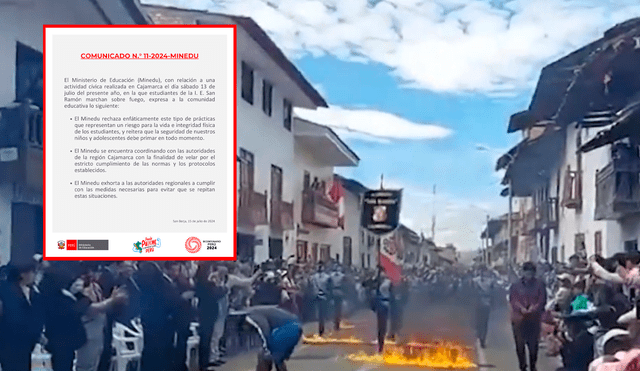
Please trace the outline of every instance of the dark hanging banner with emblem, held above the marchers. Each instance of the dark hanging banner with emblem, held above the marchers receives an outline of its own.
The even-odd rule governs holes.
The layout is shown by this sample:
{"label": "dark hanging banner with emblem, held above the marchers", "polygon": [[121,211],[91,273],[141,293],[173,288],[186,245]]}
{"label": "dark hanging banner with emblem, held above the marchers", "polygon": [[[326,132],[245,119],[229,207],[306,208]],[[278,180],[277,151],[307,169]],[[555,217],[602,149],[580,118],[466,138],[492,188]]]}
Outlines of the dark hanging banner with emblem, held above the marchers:
{"label": "dark hanging banner with emblem, held above the marchers", "polygon": [[362,227],[378,235],[393,232],[400,224],[402,190],[367,191],[362,201]]}

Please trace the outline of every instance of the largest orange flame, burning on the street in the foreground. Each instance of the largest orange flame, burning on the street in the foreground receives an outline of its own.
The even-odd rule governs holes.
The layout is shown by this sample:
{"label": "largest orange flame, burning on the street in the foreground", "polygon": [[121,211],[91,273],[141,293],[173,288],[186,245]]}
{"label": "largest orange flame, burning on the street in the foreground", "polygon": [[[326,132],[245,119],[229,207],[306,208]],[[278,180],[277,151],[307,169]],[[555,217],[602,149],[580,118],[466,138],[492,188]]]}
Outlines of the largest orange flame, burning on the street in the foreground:
{"label": "largest orange flame, burning on the street in the foreground", "polygon": [[463,348],[452,345],[430,347],[396,347],[391,346],[382,354],[368,355],[365,352],[350,354],[347,359],[353,362],[385,364],[396,366],[417,366],[432,369],[470,369],[475,368]]}

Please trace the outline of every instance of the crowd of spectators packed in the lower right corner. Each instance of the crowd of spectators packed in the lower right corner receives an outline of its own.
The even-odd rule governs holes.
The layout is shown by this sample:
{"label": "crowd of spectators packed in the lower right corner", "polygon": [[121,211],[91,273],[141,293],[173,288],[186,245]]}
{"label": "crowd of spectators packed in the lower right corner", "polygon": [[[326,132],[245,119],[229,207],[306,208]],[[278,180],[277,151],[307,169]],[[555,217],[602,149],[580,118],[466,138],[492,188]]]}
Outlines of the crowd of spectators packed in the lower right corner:
{"label": "crowd of spectators packed in the lower right corner", "polygon": [[537,277],[546,291],[540,340],[547,356],[561,358],[559,371],[640,370],[639,252],[573,255],[539,264]]}

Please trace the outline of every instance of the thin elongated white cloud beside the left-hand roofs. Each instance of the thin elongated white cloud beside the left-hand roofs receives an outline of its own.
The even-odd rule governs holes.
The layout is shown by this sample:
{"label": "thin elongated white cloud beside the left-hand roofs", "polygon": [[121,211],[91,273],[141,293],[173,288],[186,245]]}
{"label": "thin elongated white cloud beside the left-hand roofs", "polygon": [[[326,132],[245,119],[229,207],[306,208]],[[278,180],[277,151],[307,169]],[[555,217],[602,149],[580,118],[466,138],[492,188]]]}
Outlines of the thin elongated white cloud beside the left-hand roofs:
{"label": "thin elongated white cloud beside the left-hand roofs", "polygon": [[430,140],[446,138],[453,134],[450,129],[440,125],[416,123],[391,113],[371,109],[296,109],[296,114],[303,119],[336,129],[344,139],[389,143],[392,139]]}

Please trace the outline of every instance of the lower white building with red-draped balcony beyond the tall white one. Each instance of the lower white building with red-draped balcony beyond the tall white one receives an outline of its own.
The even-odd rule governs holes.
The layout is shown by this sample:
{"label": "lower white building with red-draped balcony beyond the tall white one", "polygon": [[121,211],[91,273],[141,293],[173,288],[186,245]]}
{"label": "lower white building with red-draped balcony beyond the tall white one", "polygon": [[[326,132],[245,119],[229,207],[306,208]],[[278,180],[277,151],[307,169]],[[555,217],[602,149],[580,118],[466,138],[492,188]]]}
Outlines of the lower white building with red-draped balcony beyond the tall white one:
{"label": "lower white building with red-draped balcony beyond the tall white one", "polygon": [[[294,128],[296,238],[285,255],[295,255],[298,263],[335,260],[352,265],[360,196],[345,189],[345,179],[334,170],[357,166],[360,159],[326,126],[296,117]],[[332,193],[343,198],[343,210]]]}

